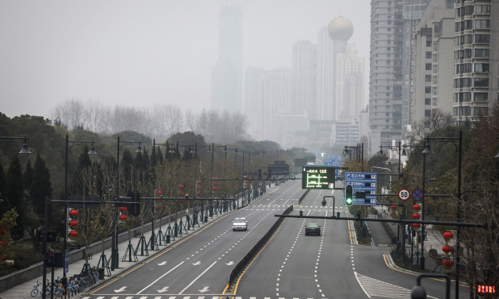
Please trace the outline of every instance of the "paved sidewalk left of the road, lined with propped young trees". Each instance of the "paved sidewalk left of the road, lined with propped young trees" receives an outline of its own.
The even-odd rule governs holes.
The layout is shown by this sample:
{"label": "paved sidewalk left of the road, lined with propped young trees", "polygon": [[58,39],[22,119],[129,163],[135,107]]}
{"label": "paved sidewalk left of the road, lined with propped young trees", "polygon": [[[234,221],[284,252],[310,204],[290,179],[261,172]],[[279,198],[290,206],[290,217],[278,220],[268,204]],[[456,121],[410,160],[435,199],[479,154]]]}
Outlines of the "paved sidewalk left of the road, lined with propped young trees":
{"label": "paved sidewalk left of the road, lined with propped young trees", "polygon": [[[239,204],[241,206],[241,202]],[[96,266],[96,268],[103,268],[103,258],[108,259],[109,261],[109,268],[104,268],[104,280],[99,280],[96,285],[99,285],[103,282],[106,282],[109,278],[118,275],[119,273],[122,273],[126,271],[128,268],[135,266],[137,263],[140,263],[141,261],[144,261],[145,259],[148,259],[152,256],[155,256],[157,253],[160,253],[160,251],[163,251],[165,248],[168,248],[170,246],[173,246],[175,243],[178,241],[182,240],[182,238],[186,238],[188,236],[191,236],[192,234],[195,234],[196,231],[199,231],[200,229],[203,229],[205,226],[208,226],[212,223],[212,221],[216,221],[220,216],[225,216],[227,214],[231,214],[233,211],[237,210],[229,210],[225,213],[219,213],[219,214],[213,214],[212,216],[207,217],[207,221],[204,223],[199,221],[199,224],[196,224],[195,226],[191,226],[189,230],[187,230],[187,217],[182,216],[181,218],[179,217],[177,219],[178,223],[178,236],[173,236],[174,231],[173,227],[175,224],[175,221],[172,221],[170,226],[168,224],[168,221],[165,221],[166,223],[160,226],[160,228],[155,229],[155,236],[157,239],[158,246],[155,246],[155,250],[151,250],[150,244],[148,248],[146,248],[145,244],[147,244],[150,240],[151,237],[151,232],[148,231],[146,232],[143,237],[140,236],[133,236],[131,238],[130,244],[133,246],[133,251],[136,251],[136,256],[131,255],[131,260],[130,260],[130,255],[128,254],[127,250],[130,248],[128,246],[128,240],[122,243],[118,243],[118,267],[114,269],[114,271],[110,271],[110,255],[111,255],[111,248],[106,248],[104,251],[103,256],[98,256],[94,254],[91,256],[91,258],[88,260],[89,266],[93,267]],[[206,211],[207,214],[208,211]],[[185,213],[184,213],[185,214]],[[192,215],[190,215],[192,216]],[[203,219],[204,220],[204,219]],[[180,221],[182,221],[182,224],[185,225],[182,226],[180,229]],[[170,229],[169,229],[170,227]],[[160,238],[158,237],[158,232],[161,231],[163,235],[167,234],[168,232],[172,233],[172,236],[170,236],[170,243],[165,243],[166,241],[166,236],[164,238],[165,241],[161,240],[161,245],[160,245]],[[180,234],[179,234],[180,233]],[[132,233],[133,234],[133,233]],[[145,240],[145,243],[140,243],[140,238],[143,238],[143,241]],[[126,254],[126,255],[125,255]],[[83,270],[83,267],[86,266],[85,259],[82,259],[80,261],[77,261],[75,263],[71,263],[69,265],[68,273],[66,273],[66,277],[71,278],[74,275],[80,274],[81,271]],[[47,268],[47,276],[46,278],[48,280],[51,280],[51,268]],[[56,278],[62,278],[63,277],[63,268],[56,268],[54,270],[54,279]],[[20,285],[16,285],[14,288],[10,288],[9,290],[4,291],[3,293],[0,293],[0,299],[25,299],[25,298],[31,298],[31,290],[34,289],[34,285],[36,285],[36,282],[40,283],[40,288],[42,288],[41,283],[43,283],[43,276],[39,276],[38,278],[34,280],[29,280],[26,283],[21,283]],[[94,285],[95,286],[95,285]],[[91,287],[92,288],[92,287]],[[41,298],[41,294],[38,294]],[[37,297],[38,297],[37,296]],[[63,296],[63,298],[79,298],[81,297],[80,294],[76,295],[66,295],[66,297]],[[48,297],[50,298],[50,297]],[[54,297],[55,298],[55,297]]]}

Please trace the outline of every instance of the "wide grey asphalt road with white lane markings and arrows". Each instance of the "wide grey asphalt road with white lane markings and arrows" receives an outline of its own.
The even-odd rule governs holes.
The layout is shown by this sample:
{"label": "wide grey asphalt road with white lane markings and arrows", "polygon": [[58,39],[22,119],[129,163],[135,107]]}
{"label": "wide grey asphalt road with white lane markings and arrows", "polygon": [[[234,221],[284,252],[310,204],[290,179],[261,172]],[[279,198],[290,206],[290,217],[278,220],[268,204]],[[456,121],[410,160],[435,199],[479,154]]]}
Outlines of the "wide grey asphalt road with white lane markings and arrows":
{"label": "wide grey asphalt road with white lane markings and arrows", "polygon": [[[359,246],[352,221],[286,218],[267,246],[227,293],[230,272],[277,221],[294,206],[303,216],[346,216],[343,192],[313,190],[298,206],[305,190],[299,180],[272,188],[243,209],[221,216],[210,225],[165,248],[130,271],[106,281],[83,299],[214,299],[214,298],[411,298],[416,275],[391,268],[389,247]],[[326,206],[321,206],[324,196]],[[244,216],[247,231],[232,231],[232,220]],[[321,226],[321,236],[305,236],[309,223]],[[445,283],[423,280],[428,298],[445,298]],[[451,294],[453,295],[453,294]],[[460,290],[467,298],[468,290]],[[453,297],[452,297],[453,298]]]}

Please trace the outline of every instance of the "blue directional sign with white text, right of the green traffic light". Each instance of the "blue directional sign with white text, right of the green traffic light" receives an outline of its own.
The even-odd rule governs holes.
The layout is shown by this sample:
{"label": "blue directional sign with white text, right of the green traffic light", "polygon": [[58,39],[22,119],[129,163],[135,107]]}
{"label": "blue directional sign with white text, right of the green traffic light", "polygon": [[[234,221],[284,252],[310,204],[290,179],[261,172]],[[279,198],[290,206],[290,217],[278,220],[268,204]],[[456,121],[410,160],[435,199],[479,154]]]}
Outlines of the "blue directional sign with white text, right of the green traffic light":
{"label": "blue directional sign with white text, right of the green traffic light", "polygon": [[[354,203],[357,205],[376,204],[376,173],[375,172],[345,172],[345,186],[354,189]],[[358,199],[356,192],[366,192],[365,199]]]}

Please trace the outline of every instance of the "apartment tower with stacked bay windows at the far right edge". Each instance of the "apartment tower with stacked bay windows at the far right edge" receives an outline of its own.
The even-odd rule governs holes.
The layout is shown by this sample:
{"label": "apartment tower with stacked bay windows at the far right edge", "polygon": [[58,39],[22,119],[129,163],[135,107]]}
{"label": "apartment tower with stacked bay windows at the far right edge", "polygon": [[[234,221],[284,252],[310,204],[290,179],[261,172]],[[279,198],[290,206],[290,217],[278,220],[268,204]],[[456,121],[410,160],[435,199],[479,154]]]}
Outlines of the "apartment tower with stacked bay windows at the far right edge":
{"label": "apartment tower with stacked bay windows at the far right edge", "polygon": [[498,100],[499,1],[456,0],[453,119],[473,125]]}

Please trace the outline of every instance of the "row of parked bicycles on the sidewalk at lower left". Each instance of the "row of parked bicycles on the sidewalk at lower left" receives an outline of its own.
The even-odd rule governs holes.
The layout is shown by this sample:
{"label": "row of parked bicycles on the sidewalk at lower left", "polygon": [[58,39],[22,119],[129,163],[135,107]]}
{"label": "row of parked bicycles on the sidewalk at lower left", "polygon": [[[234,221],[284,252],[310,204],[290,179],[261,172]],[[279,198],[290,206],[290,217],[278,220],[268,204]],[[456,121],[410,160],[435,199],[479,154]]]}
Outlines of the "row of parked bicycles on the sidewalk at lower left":
{"label": "row of parked bicycles on the sidewalk at lower left", "polygon": [[[91,268],[89,271],[84,271],[81,274],[75,275],[68,278],[66,285],[63,285],[62,279],[55,279],[53,283],[47,280],[45,297],[55,296],[56,298],[62,298],[64,295],[76,295],[76,293],[83,292],[85,288],[97,283],[99,281],[99,275],[96,267]],[[33,286],[31,290],[31,296],[36,297],[38,294],[42,294],[43,290],[40,286],[41,284],[36,280],[36,285]]]}

